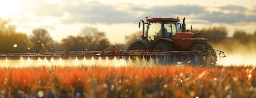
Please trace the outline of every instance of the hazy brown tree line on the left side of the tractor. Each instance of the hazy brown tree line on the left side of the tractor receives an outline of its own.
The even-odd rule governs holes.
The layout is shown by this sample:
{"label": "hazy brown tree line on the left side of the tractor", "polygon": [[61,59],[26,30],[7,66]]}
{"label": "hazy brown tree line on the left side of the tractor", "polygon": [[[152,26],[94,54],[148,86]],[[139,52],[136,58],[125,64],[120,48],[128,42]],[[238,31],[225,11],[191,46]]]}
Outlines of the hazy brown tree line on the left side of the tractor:
{"label": "hazy brown tree line on the left side of the tractor", "polygon": [[85,26],[76,36],[63,38],[60,43],[54,41],[45,28],[36,28],[32,35],[16,32],[11,20],[0,18],[0,53],[31,53],[61,50],[96,51],[108,48],[110,41],[106,33],[97,28]]}

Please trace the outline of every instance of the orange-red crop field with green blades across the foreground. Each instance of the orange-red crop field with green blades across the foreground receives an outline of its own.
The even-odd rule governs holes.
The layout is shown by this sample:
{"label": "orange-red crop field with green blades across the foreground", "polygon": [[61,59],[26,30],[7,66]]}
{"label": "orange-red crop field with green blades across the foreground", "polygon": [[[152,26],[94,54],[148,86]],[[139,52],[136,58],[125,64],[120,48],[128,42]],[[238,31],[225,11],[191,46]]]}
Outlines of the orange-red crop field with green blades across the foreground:
{"label": "orange-red crop field with green blades across the foreground", "polygon": [[256,98],[256,67],[0,68],[2,98]]}

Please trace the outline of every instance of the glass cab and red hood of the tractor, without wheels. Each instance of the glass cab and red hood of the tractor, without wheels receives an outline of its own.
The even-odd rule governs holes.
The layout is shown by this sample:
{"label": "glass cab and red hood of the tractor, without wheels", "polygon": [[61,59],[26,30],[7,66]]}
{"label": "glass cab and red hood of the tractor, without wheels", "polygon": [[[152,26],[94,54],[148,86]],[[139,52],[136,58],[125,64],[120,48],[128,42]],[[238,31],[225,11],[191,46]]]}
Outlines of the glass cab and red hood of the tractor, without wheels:
{"label": "glass cab and red hood of the tractor, without wheels", "polygon": [[[146,15],[146,22],[143,20],[139,21],[139,27],[142,22],[142,35],[141,38],[146,40],[149,45],[153,48],[159,41],[168,41],[173,43],[175,48],[180,48],[181,50],[186,50],[192,44],[195,43],[205,43],[207,39],[200,38],[200,33],[191,33],[186,31],[186,25],[184,23],[180,24],[179,17],[169,18],[169,17],[157,17],[148,18]],[[146,24],[146,29],[144,29]],[[192,27],[191,27],[192,28]],[[145,31],[146,30],[146,31]],[[182,31],[180,31],[182,30]],[[140,40],[140,39],[138,39]],[[140,40],[141,41],[141,40]],[[141,41],[143,42],[143,41]],[[144,41],[145,45],[145,41]],[[149,48],[150,49],[150,48]],[[175,50],[180,50],[175,49]]]}

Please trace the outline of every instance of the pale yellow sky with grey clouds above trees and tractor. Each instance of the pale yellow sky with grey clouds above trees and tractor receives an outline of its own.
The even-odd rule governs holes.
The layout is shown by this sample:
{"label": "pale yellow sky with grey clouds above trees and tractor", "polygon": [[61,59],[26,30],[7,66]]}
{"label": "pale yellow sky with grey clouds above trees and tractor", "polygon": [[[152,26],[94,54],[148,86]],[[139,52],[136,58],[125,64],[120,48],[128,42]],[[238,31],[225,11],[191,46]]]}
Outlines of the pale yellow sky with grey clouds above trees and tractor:
{"label": "pale yellow sky with grey clouds above trees and tractor", "polygon": [[0,17],[11,18],[17,32],[31,35],[45,28],[58,42],[79,35],[91,26],[105,32],[112,44],[142,30],[138,21],[148,17],[186,17],[186,25],[202,29],[225,26],[228,36],[236,29],[254,33],[256,0],[2,0]]}

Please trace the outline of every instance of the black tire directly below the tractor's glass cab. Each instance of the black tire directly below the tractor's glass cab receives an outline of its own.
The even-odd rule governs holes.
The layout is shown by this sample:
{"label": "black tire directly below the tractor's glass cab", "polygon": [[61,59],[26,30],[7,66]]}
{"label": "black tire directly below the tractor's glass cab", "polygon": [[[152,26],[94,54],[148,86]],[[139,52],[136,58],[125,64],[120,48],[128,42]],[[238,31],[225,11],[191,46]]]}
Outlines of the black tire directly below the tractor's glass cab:
{"label": "black tire directly below the tractor's glass cab", "polygon": [[[155,45],[154,50],[171,51],[171,50],[174,50],[174,45],[171,42],[160,41]],[[161,55],[161,56],[157,56],[155,61],[157,64],[166,65],[169,63],[173,63],[172,60],[173,60],[172,56]]]}

